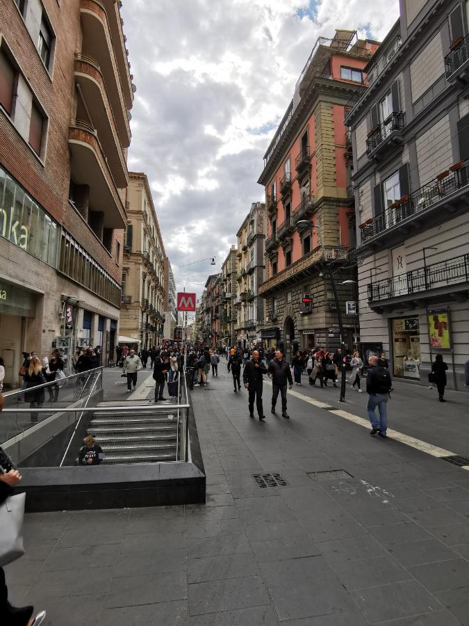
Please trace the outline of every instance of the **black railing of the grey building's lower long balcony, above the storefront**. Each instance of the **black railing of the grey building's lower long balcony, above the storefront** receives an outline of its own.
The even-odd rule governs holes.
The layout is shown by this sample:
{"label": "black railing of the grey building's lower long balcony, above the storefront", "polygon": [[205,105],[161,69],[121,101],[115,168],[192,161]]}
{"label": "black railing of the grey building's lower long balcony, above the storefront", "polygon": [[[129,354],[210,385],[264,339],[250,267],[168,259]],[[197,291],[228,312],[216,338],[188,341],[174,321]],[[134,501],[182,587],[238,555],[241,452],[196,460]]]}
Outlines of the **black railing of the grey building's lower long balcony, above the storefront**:
{"label": "black railing of the grey building's lower long balcony, above the storefront", "polygon": [[461,282],[469,282],[469,255],[453,257],[391,278],[370,282],[368,301],[388,300]]}

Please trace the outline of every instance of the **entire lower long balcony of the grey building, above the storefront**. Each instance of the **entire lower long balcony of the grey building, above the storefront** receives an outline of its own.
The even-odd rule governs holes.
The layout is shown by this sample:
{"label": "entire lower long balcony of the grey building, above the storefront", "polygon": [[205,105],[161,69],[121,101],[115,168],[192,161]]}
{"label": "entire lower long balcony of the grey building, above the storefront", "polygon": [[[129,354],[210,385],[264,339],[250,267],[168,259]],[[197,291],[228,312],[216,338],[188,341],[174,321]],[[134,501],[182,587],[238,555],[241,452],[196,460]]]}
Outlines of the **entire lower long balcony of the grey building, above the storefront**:
{"label": "entire lower long balcony of the grey building, above the storefront", "polygon": [[[411,270],[392,278],[368,284],[368,302],[376,310],[384,310],[397,303],[411,300],[441,300],[448,294],[456,300],[469,296],[469,255],[446,259]],[[379,303],[377,306],[375,303]]]}

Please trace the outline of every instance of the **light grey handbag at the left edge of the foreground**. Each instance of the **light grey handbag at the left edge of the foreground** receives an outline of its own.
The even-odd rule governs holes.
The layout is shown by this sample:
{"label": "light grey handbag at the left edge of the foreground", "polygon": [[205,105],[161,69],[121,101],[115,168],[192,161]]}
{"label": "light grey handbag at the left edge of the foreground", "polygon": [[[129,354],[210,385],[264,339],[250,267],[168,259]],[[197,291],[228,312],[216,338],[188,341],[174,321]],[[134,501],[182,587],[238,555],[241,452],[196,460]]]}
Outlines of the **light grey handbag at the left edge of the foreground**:
{"label": "light grey handbag at the left edge of the foreground", "polygon": [[24,554],[23,518],[26,493],[8,497],[0,505],[0,567]]}

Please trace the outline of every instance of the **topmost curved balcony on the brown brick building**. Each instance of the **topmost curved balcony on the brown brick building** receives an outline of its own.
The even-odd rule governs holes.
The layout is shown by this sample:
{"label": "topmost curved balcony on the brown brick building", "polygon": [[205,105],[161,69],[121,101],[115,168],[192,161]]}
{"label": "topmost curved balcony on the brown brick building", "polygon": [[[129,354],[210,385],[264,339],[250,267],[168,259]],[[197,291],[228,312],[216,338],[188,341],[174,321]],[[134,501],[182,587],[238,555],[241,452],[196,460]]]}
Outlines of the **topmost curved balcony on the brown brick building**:
{"label": "topmost curved balcony on the brown brick building", "polygon": [[123,147],[129,147],[131,131],[127,117],[128,107],[124,100],[106,10],[97,0],[81,0],[80,15],[83,31],[81,52],[94,58],[99,64],[115,115],[120,142]]}

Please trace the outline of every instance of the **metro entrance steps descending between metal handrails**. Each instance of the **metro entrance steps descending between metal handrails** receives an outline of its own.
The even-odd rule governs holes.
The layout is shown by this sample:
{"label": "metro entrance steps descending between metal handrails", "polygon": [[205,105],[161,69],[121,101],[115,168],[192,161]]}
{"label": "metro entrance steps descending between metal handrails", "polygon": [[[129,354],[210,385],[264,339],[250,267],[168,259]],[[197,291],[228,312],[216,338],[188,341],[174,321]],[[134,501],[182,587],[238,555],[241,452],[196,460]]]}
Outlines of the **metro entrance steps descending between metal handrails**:
{"label": "metro entrance steps descending between metal handrails", "polygon": [[[99,405],[101,406],[101,405]],[[158,463],[178,460],[177,410],[117,412],[112,406],[93,414],[89,435],[104,452],[104,463]]]}

